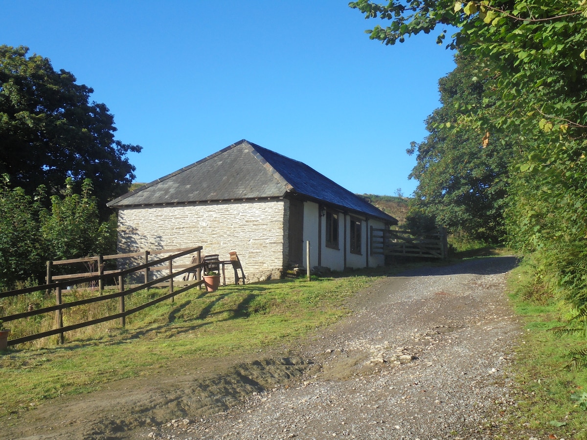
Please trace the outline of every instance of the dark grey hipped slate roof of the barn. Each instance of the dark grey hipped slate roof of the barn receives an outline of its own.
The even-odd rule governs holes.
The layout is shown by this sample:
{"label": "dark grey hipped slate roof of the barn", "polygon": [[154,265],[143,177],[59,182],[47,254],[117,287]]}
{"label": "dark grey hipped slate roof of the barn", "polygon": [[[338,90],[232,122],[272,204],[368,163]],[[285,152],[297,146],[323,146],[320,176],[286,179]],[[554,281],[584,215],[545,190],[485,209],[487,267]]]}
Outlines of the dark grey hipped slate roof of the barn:
{"label": "dark grey hipped slate roof of the barn", "polygon": [[247,140],[108,203],[112,208],[284,197],[313,199],[391,224],[397,220],[302,162]]}

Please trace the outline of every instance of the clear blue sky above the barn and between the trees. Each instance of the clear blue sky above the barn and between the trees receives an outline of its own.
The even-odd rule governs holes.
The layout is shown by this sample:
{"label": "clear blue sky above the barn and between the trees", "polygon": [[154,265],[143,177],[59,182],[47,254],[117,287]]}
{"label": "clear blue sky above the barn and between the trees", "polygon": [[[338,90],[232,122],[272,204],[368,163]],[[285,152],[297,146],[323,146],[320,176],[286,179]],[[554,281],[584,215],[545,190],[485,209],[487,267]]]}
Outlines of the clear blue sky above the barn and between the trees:
{"label": "clear blue sky above the barn and between the trees", "polygon": [[245,138],[350,191],[410,195],[453,53],[385,46],[345,0],[4,1],[0,44],[28,46],[114,114],[150,182]]}

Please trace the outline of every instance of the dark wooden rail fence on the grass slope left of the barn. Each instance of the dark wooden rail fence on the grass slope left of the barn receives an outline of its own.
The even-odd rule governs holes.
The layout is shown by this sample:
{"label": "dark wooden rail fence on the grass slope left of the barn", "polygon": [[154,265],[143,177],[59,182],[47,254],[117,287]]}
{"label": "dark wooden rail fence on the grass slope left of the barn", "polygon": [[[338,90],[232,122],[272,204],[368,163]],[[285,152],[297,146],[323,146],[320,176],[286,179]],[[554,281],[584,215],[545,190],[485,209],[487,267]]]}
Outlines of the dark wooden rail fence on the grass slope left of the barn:
{"label": "dark wooden rail fence on the grass slope left of the barn", "polygon": [[[15,313],[7,316],[0,317],[2,321],[10,322],[15,321],[18,319],[25,319],[31,316],[36,316],[45,313],[56,312],[55,321],[56,321],[56,328],[48,331],[43,331],[41,333],[29,334],[27,336],[18,337],[15,339],[8,340],[8,346],[13,346],[16,344],[22,344],[25,342],[29,342],[36,339],[41,339],[43,337],[53,336],[55,334],[59,334],[59,342],[63,343],[64,341],[64,333],[66,331],[81,329],[83,327],[93,326],[95,324],[103,323],[110,320],[120,319],[120,324],[124,327],[126,324],[126,317],[130,314],[139,312],[140,310],[146,309],[147,307],[153,306],[154,304],[160,303],[166,299],[173,300],[174,296],[180,295],[187,290],[193,289],[193,287],[197,287],[203,284],[203,280],[201,279],[201,270],[204,267],[204,260],[201,257],[201,250],[202,246],[196,246],[194,248],[180,248],[180,249],[161,249],[157,251],[145,251],[145,252],[137,252],[137,253],[126,253],[126,254],[119,254],[119,255],[107,255],[107,256],[96,256],[90,258],[76,258],[71,260],[59,260],[59,262],[48,262],[48,281],[45,285],[35,286],[35,287],[27,287],[25,289],[18,289],[18,290],[10,290],[9,292],[0,292],[0,298],[6,297],[14,297],[18,295],[25,295],[27,293],[45,291],[50,292],[52,290],[55,291],[55,298],[56,304],[55,306],[49,307],[42,307],[41,309],[36,310],[27,310],[26,312],[22,313]],[[148,261],[149,255],[157,255],[161,253],[171,253],[172,255],[165,256],[163,258],[158,258],[151,262]],[[197,256],[197,263],[195,264],[181,264],[181,265],[173,265],[173,260],[176,258],[180,258],[185,255],[190,255],[195,253]],[[60,275],[55,276],[55,279],[66,279],[64,281],[57,281],[57,282],[50,282],[52,280],[52,276],[50,276],[49,268],[53,266],[53,263],[57,263],[58,265],[62,264],[71,264],[71,263],[83,263],[83,262],[99,262],[100,259],[114,259],[114,258],[132,258],[132,257],[146,257],[146,262],[133,266],[131,268],[122,269],[122,270],[107,270],[103,271],[102,273],[97,273],[97,275],[93,272],[90,272],[89,276],[88,273],[74,273],[70,275]],[[52,264],[49,264],[52,263]],[[163,263],[167,263],[167,265],[163,265]],[[174,269],[179,269],[174,272]],[[161,270],[168,270],[167,275],[163,275],[160,277],[156,277],[152,280],[148,280],[149,273],[154,271],[161,271]],[[100,270],[98,270],[100,272]],[[124,288],[124,277],[129,276],[135,272],[144,272],[145,274],[145,282],[140,285],[131,285],[128,289]],[[184,275],[184,274],[191,274],[193,273],[194,281],[190,282],[189,277],[184,276],[184,284],[178,290],[174,290],[174,278]],[[115,287],[118,288],[118,292],[110,293],[107,295],[102,295],[102,290],[104,286],[104,282],[106,280],[115,279]],[[186,280],[187,279],[187,280]],[[68,303],[62,302],[62,290],[64,287],[72,286],[72,285],[80,285],[86,283],[95,283],[99,282],[100,286],[100,295],[95,297],[89,297],[82,300],[76,300]],[[116,283],[117,281],[117,283]],[[133,307],[133,309],[125,310],[124,298],[131,293],[138,292],[139,290],[147,289],[153,286],[161,286],[161,283],[166,282],[164,286],[168,286],[169,292],[166,295],[157,297],[147,303],[140,304],[139,306]],[[178,283],[176,281],[176,283]],[[111,314],[109,316],[100,317],[93,320],[83,321],[81,323],[70,324],[68,326],[63,325],[63,310],[69,309],[71,307],[82,306],[84,304],[90,304],[95,302],[101,302],[111,299],[119,299],[119,313]]]}

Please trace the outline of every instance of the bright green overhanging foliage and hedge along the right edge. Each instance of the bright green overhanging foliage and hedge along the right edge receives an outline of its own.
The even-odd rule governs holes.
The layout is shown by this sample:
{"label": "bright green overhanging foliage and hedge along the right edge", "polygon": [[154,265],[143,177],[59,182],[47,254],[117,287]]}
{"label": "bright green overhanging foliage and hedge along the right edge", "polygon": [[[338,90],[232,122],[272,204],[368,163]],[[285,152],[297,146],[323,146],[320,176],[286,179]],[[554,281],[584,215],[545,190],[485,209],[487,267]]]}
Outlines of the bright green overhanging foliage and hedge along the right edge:
{"label": "bright green overhanging foliage and hedge along the right edge", "polygon": [[[511,162],[506,226],[575,307],[587,303],[587,1],[390,1],[349,4],[386,26],[367,31],[393,45],[420,32],[456,32],[447,46],[487,62],[481,106],[460,97],[461,131],[507,134]],[[466,86],[465,86],[466,87]],[[480,143],[481,138],[478,139]],[[550,262],[554,261],[554,264]]]}

